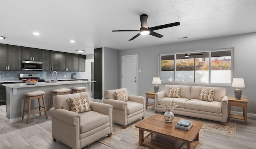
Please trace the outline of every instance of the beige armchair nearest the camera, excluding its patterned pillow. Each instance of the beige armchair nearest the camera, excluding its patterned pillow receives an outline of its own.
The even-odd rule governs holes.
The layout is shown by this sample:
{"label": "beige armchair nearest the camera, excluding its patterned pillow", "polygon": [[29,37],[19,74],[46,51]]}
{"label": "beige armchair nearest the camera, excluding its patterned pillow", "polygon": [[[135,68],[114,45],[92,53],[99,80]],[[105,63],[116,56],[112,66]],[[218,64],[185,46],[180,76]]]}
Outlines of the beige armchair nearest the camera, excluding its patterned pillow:
{"label": "beige armchair nearest the camera, excluding its patterned pillow", "polygon": [[[91,111],[75,113],[71,111],[69,97],[88,97]],[[54,96],[49,110],[52,116],[52,137],[72,149],[81,149],[108,135],[112,135],[112,105],[92,102],[89,92]]]}

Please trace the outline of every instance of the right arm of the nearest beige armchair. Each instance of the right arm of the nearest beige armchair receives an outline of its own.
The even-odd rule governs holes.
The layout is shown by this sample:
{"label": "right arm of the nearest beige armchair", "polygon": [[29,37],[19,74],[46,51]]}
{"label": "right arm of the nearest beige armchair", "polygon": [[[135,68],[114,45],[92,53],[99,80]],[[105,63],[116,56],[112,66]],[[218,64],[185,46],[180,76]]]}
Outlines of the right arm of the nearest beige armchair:
{"label": "right arm of the nearest beige armchair", "polygon": [[91,102],[91,110],[102,113],[104,115],[111,116],[113,106],[105,103]]}

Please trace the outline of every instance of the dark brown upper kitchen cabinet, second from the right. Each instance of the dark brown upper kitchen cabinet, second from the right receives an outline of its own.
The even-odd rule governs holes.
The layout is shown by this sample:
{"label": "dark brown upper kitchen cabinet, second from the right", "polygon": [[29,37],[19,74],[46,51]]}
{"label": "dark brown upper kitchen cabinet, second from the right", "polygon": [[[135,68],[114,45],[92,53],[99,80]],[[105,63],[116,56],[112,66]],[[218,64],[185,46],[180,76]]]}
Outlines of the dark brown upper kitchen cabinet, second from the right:
{"label": "dark brown upper kitchen cabinet, second from the right", "polygon": [[73,70],[73,54],[60,52],[60,71],[70,72]]}

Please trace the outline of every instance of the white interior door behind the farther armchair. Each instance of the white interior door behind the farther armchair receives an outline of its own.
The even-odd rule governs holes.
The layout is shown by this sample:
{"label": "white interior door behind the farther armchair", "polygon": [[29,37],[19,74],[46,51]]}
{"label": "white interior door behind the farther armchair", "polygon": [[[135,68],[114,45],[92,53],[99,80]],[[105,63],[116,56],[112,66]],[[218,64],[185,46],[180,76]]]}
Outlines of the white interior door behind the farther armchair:
{"label": "white interior door behind the farther armchair", "polygon": [[137,95],[137,55],[122,56],[122,87],[129,95]]}

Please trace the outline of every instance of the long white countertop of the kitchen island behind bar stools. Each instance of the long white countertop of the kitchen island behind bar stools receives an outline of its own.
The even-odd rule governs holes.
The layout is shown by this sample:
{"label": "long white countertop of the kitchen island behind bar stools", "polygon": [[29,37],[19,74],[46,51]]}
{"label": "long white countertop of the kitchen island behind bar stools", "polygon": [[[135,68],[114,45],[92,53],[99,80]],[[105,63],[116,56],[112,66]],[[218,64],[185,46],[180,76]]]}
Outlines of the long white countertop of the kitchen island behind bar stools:
{"label": "long white countertop of the kitchen island behind bar stools", "polygon": [[62,84],[75,84],[75,83],[94,83],[96,81],[83,81],[83,80],[76,80],[76,81],[58,81],[56,82],[37,82],[34,85],[28,85],[26,83],[12,83],[12,84],[2,84],[5,87],[9,88],[24,88],[24,87],[40,87],[40,86],[50,86],[50,85],[62,85]]}

